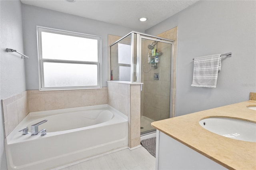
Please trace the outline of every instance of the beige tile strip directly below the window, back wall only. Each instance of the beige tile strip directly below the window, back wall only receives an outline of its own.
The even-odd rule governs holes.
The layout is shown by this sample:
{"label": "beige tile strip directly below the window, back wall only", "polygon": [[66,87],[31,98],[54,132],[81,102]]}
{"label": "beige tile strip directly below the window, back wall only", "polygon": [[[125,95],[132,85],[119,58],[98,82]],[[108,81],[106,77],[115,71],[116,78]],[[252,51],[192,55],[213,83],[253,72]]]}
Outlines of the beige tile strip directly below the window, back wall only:
{"label": "beige tile strip directly below the window, back wall only", "polygon": [[28,90],[29,112],[103,105],[107,101],[107,87],[61,91]]}

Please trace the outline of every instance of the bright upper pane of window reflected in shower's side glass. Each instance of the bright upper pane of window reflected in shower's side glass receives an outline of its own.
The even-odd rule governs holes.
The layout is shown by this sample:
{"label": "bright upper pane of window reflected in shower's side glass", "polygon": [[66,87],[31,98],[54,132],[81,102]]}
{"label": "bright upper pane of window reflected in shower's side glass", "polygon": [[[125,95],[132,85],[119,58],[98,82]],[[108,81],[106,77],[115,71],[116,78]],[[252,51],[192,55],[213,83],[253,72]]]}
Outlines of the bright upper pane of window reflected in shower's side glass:
{"label": "bright upper pane of window reflected in shower's side glass", "polygon": [[131,64],[131,45],[118,43],[118,63]]}

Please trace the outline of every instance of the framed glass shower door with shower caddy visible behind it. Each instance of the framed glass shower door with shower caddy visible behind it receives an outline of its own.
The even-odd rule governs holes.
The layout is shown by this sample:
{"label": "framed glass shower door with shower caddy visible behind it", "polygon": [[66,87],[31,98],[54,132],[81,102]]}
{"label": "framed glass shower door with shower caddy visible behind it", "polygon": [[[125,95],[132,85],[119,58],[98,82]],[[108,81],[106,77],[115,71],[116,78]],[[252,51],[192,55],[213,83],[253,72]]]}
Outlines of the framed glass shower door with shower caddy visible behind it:
{"label": "framed glass shower door with shower caddy visible behind it", "polygon": [[170,118],[172,42],[141,37],[140,132],[154,132],[151,123]]}

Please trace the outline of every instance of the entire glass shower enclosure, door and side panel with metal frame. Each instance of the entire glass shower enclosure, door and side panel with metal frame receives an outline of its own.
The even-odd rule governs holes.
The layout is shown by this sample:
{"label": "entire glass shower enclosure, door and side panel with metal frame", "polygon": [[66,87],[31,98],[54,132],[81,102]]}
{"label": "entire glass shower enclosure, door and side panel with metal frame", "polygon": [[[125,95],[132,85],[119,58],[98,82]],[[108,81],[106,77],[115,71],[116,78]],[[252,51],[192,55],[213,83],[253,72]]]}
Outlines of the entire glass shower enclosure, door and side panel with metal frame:
{"label": "entire glass shower enclosure, door and side panel with metal frame", "polygon": [[111,81],[143,83],[141,135],[155,132],[153,121],[171,117],[171,77],[174,41],[131,32],[110,45]]}

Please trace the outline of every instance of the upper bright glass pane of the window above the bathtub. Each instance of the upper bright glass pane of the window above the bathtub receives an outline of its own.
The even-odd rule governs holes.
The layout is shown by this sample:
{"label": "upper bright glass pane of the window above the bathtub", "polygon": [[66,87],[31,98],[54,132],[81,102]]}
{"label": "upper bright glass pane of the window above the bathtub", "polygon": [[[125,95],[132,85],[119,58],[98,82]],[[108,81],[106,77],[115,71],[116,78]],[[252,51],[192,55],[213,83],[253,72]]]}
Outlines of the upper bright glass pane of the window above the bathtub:
{"label": "upper bright glass pane of the window above the bathtub", "polygon": [[98,62],[98,40],[42,32],[42,58]]}

